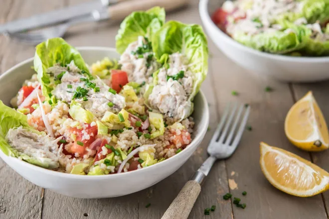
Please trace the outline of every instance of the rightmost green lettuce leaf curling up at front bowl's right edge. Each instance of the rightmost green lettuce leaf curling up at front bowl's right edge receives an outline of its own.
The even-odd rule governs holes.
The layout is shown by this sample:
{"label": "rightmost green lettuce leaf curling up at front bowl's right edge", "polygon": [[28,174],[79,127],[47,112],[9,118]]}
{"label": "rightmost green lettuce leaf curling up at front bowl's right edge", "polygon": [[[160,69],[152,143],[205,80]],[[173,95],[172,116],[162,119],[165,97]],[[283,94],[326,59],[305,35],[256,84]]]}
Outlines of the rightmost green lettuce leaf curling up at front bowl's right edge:
{"label": "rightmost green lettuce leaf curling up at front bowl's right edge", "polygon": [[208,73],[208,45],[200,25],[187,25],[177,21],[168,21],[152,38],[153,51],[157,59],[164,64],[165,54],[180,52],[189,62],[189,70],[194,74],[193,91],[188,98],[189,116],[193,111],[193,98],[200,89]]}

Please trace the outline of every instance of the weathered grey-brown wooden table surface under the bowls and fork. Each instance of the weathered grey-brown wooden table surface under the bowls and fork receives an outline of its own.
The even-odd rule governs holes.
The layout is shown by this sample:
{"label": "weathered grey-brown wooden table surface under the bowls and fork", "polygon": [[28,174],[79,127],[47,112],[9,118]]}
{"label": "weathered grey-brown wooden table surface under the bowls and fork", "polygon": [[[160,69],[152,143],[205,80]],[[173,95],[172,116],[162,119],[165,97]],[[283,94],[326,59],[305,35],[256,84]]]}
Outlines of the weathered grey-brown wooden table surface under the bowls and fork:
{"label": "weathered grey-brown wooden table surface under the bowls and fork", "polygon": [[[1,0],[0,23],[38,12],[61,8],[81,0]],[[198,1],[170,13],[167,20],[201,24]],[[115,46],[119,25],[84,24],[69,29],[65,39],[74,46]],[[207,143],[223,108],[229,101],[250,104],[249,124],[235,154],[213,166],[202,186],[189,219],[327,219],[329,192],[311,198],[287,195],[270,185],[259,166],[259,142],[296,153],[329,170],[329,151],[309,153],[289,143],[284,119],[290,107],[312,90],[324,115],[329,119],[329,82],[285,84],[260,78],[234,64],[209,40],[209,73],[202,84],[210,108],[209,131],[193,156],[174,174],[135,194],[111,199],[74,199],[33,185],[0,160],[0,219],[160,219],[184,183],[206,159]],[[0,36],[0,73],[32,57],[34,47]],[[312,74],[312,72],[310,72]],[[273,92],[264,92],[266,86]],[[239,95],[232,96],[236,90]],[[234,181],[233,181],[234,180]],[[229,182],[237,183],[231,190]],[[111,182],[109,182],[111,183]],[[247,191],[242,197],[241,192]],[[242,197],[246,209],[224,201],[227,192]],[[145,206],[151,203],[149,208]],[[204,216],[203,210],[216,205],[216,211]]]}

